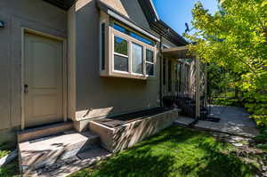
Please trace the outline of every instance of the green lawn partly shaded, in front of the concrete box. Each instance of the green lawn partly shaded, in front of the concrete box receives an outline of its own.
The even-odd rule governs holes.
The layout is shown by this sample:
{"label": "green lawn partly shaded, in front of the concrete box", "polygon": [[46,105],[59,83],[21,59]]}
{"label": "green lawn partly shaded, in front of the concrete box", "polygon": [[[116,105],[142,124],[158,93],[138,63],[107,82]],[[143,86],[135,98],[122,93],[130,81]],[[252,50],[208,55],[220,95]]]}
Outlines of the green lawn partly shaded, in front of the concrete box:
{"label": "green lawn partly shaded, in front of the concrete box", "polygon": [[171,127],[69,177],[249,177],[256,165],[207,133]]}

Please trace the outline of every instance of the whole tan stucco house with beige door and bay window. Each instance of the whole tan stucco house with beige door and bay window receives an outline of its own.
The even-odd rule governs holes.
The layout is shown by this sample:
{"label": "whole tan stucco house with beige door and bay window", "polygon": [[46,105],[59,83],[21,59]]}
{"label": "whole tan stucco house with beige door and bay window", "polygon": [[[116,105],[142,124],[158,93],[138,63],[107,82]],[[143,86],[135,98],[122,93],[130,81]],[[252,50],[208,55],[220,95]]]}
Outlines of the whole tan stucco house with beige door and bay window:
{"label": "whole tan stucco house with beige door and bay window", "polygon": [[187,42],[150,0],[1,1],[0,21],[0,142],[65,121],[82,132],[195,92],[194,62],[170,52]]}

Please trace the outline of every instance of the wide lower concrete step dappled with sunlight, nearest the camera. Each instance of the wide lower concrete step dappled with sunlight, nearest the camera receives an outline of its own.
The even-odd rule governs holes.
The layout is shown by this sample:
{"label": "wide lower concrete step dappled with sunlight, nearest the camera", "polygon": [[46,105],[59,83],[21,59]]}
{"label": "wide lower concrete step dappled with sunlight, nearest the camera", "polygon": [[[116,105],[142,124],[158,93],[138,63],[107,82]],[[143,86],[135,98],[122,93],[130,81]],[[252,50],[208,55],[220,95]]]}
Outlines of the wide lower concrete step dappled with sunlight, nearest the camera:
{"label": "wide lower concrete step dappled with sunlight, nearest the camera", "polygon": [[76,156],[100,144],[97,134],[91,132],[61,133],[19,143],[20,169],[23,173]]}

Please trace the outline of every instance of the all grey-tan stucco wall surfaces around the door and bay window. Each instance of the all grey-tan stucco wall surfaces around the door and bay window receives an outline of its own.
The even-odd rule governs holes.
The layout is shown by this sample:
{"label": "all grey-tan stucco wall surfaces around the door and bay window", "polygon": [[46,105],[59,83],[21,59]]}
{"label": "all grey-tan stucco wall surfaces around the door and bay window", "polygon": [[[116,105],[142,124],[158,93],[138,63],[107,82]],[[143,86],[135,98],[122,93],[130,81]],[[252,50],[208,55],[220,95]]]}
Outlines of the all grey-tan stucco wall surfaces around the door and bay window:
{"label": "all grey-tan stucco wall surfaces around the door and bay window", "polygon": [[[102,1],[150,28],[137,0]],[[6,23],[0,28],[0,130],[20,127],[21,28],[66,38],[68,32],[69,91],[73,93],[69,94],[73,108],[69,117],[87,109],[112,108],[111,115],[159,106],[159,58],[156,79],[100,76],[99,10],[95,3],[78,0],[66,12],[42,0],[0,1],[0,20]]]}

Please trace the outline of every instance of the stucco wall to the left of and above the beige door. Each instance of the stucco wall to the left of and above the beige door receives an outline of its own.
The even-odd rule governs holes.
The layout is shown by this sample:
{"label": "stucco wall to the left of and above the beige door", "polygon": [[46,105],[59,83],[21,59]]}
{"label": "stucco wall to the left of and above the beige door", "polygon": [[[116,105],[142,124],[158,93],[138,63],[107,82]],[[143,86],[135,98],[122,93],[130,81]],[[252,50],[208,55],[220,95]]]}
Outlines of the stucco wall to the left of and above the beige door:
{"label": "stucco wall to the left of and above the beige door", "polygon": [[[21,28],[66,37],[67,13],[40,0],[0,1],[0,130],[20,125]],[[3,141],[3,139],[1,139]]]}

